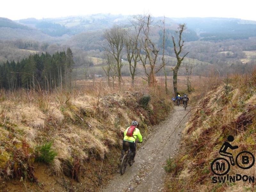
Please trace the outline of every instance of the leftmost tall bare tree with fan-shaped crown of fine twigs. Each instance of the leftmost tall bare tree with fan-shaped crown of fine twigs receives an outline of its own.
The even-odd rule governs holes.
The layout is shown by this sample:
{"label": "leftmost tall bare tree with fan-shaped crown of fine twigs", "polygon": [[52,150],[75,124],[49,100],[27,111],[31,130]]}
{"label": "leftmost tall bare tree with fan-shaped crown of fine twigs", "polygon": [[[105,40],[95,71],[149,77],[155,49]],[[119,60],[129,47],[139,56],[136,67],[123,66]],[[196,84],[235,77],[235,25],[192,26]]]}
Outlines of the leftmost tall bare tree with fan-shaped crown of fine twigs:
{"label": "leftmost tall bare tree with fan-shaped crown of fine twigs", "polygon": [[123,63],[121,62],[122,59],[122,50],[124,47],[125,42],[125,30],[119,26],[114,26],[113,28],[106,30],[104,32],[104,38],[108,42],[108,46],[104,47],[105,50],[115,58],[115,65],[117,70],[118,76],[118,84],[119,87],[121,85],[122,76],[121,76],[121,69],[123,67]]}

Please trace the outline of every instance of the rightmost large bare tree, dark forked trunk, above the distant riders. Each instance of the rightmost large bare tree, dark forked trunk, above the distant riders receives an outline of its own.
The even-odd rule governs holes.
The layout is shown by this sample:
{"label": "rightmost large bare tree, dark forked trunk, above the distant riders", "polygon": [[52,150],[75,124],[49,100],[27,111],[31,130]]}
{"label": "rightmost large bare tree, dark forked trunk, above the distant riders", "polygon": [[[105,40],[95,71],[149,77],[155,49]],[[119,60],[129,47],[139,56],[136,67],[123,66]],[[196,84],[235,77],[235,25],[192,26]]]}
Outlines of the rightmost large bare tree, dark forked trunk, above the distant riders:
{"label": "rightmost large bare tree, dark forked trunk, above the distant riders", "polygon": [[184,46],[184,41],[181,42],[181,36],[182,36],[182,32],[185,30],[185,26],[186,26],[186,24],[184,23],[184,24],[180,24],[178,27],[178,29],[179,29],[179,51],[177,51],[174,37],[172,36],[173,48],[174,48],[174,52],[175,52],[176,59],[177,59],[176,66],[172,69],[172,71],[173,71],[173,89],[174,89],[175,96],[177,95],[177,91],[178,91],[177,74],[178,74],[181,62],[186,57],[186,55],[189,53],[189,52],[187,52],[183,57],[180,57],[182,47]]}

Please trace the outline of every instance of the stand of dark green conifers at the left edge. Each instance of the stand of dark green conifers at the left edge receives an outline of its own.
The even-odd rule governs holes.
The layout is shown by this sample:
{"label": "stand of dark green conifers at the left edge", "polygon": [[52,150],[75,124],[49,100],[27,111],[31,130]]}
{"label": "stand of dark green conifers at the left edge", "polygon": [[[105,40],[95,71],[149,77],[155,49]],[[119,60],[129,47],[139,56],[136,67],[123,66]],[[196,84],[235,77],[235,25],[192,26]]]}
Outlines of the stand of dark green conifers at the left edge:
{"label": "stand of dark green conifers at the left edge", "polygon": [[[0,65],[0,88],[39,89],[52,91],[56,86],[71,87],[73,53],[70,48],[53,55],[42,53],[30,55],[15,63],[6,61]],[[65,79],[65,81],[63,81]]]}

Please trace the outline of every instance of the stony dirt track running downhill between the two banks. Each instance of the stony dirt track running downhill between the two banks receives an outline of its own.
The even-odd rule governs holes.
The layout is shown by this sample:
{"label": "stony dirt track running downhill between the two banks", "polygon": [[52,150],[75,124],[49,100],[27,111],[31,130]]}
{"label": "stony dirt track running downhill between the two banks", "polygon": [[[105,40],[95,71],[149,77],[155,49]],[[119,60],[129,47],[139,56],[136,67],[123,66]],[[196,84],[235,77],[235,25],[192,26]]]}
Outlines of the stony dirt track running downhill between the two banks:
{"label": "stony dirt track running downhill between the two banks", "polygon": [[149,137],[143,147],[136,151],[135,163],[131,167],[127,166],[124,175],[117,173],[102,191],[163,191],[163,165],[169,155],[173,156],[174,150],[178,148],[180,134],[188,115],[181,123],[180,121],[187,112],[183,107],[175,107],[172,115],[154,127],[154,136]]}

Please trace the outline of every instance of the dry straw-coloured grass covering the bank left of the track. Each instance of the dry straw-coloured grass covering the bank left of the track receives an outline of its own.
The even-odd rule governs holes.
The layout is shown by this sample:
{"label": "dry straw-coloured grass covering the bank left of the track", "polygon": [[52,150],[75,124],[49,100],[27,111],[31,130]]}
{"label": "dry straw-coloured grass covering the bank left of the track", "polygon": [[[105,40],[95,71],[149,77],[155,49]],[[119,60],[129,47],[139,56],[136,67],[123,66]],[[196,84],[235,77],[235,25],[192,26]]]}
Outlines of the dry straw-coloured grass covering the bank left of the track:
{"label": "dry straw-coloured grass covering the bank left of the track", "polygon": [[[148,125],[159,123],[171,110],[171,92],[164,93],[163,78],[158,77],[154,89],[140,80],[131,86],[124,78],[122,87],[108,87],[106,82],[78,81],[72,91],[57,89],[52,93],[19,90],[0,92],[0,175],[34,178],[34,171],[23,169],[14,174],[12,161],[16,148],[33,156],[27,164],[33,166],[36,146],[53,141],[57,156],[48,165],[49,174],[62,173],[79,180],[80,170],[91,161],[102,161],[111,151],[119,151],[124,129],[132,120],[139,121],[142,134]],[[183,86],[180,78],[180,87]],[[168,79],[171,81],[171,79]],[[170,83],[169,83],[170,84]],[[171,86],[170,86],[171,89]],[[147,108],[139,105],[144,95],[150,95]],[[22,147],[26,143],[26,147]],[[16,146],[13,148],[13,146]],[[115,154],[117,159],[119,153]],[[20,154],[19,154],[20,157]],[[110,161],[110,160],[108,160]],[[88,171],[88,170],[87,170]],[[28,173],[28,174],[27,174]],[[93,177],[97,177],[94,175]],[[36,179],[36,178],[34,178]]]}

